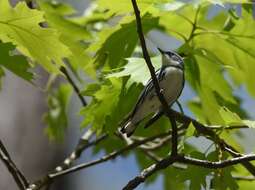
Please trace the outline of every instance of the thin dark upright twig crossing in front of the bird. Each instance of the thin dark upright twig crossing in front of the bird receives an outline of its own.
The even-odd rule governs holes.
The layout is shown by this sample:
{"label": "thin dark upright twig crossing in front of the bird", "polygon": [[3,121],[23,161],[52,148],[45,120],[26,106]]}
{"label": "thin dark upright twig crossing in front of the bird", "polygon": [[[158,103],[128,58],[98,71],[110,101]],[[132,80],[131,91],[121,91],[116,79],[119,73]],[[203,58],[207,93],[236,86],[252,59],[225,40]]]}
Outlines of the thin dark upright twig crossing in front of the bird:
{"label": "thin dark upright twig crossing in front of the bird", "polygon": [[146,47],[146,42],[145,42],[144,35],[143,35],[143,28],[142,28],[142,22],[141,22],[141,17],[140,17],[140,10],[137,6],[136,0],[131,0],[131,1],[132,1],[132,5],[133,5],[133,8],[134,8],[134,12],[135,12],[136,24],[137,24],[137,33],[138,33],[138,36],[139,36],[139,39],[140,39],[140,44],[141,44],[141,47],[142,47],[143,57],[146,61],[147,67],[149,68],[151,78],[152,78],[152,82],[153,82],[153,85],[155,87],[155,91],[156,91],[156,94],[158,96],[158,99],[162,104],[163,111],[166,114],[166,116],[169,118],[169,121],[172,125],[172,152],[171,152],[171,154],[176,155],[178,153],[177,152],[177,146],[178,146],[177,125],[176,125],[175,119],[171,115],[171,112],[170,112],[169,107],[168,107],[168,103],[167,103],[166,99],[164,98],[164,95],[163,95],[163,93],[160,89],[159,82],[158,82],[158,79],[157,79],[156,74],[155,74],[155,69],[152,65],[152,62],[151,62],[151,59],[150,59],[150,56],[149,56],[149,53],[148,53],[148,50],[147,50],[147,47]]}

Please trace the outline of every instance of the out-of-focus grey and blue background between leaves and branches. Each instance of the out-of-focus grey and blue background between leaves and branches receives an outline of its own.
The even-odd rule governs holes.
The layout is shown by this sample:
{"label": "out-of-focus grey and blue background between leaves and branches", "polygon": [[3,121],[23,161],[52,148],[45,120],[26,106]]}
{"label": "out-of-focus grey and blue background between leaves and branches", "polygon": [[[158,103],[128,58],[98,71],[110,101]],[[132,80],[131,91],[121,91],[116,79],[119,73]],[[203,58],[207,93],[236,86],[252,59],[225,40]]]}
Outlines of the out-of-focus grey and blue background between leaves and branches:
{"label": "out-of-focus grey and blue background between leaves and branches", "polygon": [[[82,14],[89,4],[88,0],[66,0],[71,3],[79,13]],[[13,1],[15,3],[15,1]],[[214,11],[217,11],[216,9]],[[150,42],[156,43],[160,47],[177,48],[180,44],[171,38],[163,36],[158,32],[151,32],[148,37]],[[1,61],[1,60],[0,60]],[[38,88],[26,81],[14,76],[6,71],[6,77],[2,81],[0,92],[0,138],[6,145],[11,157],[17,166],[24,172],[25,176],[33,181],[55,168],[73,150],[82,134],[79,126],[79,108],[81,106],[78,98],[74,94],[68,109],[69,128],[64,143],[50,142],[44,132],[45,124],[42,122],[42,115],[46,111],[46,93],[42,90],[46,85],[46,74],[38,69],[37,83],[42,88]],[[255,117],[255,102],[242,88],[236,89],[236,93],[244,98],[243,106]],[[181,102],[194,96],[188,87],[185,87]],[[186,112],[187,113],[187,110]],[[189,112],[187,114],[190,114]],[[253,132],[244,131],[243,141],[251,145]],[[250,135],[248,135],[250,134]],[[202,139],[203,140],[203,139]],[[206,142],[202,143],[205,144]],[[247,152],[252,151],[252,146],[246,146]],[[202,147],[203,148],[203,147]],[[104,155],[100,152],[94,156],[91,150],[86,151],[77,163],[95,159]],[[18,189],[11,175],[5,166],[0,163],[0,190]],[[82,170],[67,177],[56,180],[51,189],[55,190],[118,190],[125,185],[128,180],[139,173],[133,156],[117,158],[114,161],[106,162],[95,167]],[[145,187],[138,189],[155,190],[162,189],[162,179]]]}

